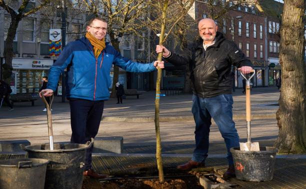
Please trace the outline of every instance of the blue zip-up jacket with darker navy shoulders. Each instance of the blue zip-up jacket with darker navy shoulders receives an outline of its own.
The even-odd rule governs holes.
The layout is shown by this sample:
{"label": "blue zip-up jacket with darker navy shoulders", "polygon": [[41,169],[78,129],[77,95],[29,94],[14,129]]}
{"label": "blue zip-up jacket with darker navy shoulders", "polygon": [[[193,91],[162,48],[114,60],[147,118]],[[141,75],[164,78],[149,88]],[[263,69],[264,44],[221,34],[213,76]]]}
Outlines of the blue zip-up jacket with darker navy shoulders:
{"label": "blue zip-up jacket with darker navy shoulders", "polygon": [[67,68],[67,98],[107,100],[112,64],[130,72],[156,70],[153,63],[125,61],[120,53],[108,43],[96,58],[91,43],[87,38],[82,37],[69,42],[53,63],[48,74],[47,88],[55,91],[59,75]]}

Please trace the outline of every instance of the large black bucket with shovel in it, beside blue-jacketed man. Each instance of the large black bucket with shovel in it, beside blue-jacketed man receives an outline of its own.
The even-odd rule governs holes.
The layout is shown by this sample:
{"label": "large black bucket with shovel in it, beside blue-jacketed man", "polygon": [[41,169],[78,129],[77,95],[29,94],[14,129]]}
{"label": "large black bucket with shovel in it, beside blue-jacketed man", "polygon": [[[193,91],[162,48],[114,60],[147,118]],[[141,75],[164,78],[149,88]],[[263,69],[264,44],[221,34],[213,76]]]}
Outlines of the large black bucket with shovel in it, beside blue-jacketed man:
{"label": "large black bucket with shovel in it, beside blue-jacketed man", "polygon": [[29,145],[24,150],[28,157],[44,158],[47,164],[44,188],[81,188],[84,171],[86,148],[93,143],[54,143],[54,150],[49,144]]}

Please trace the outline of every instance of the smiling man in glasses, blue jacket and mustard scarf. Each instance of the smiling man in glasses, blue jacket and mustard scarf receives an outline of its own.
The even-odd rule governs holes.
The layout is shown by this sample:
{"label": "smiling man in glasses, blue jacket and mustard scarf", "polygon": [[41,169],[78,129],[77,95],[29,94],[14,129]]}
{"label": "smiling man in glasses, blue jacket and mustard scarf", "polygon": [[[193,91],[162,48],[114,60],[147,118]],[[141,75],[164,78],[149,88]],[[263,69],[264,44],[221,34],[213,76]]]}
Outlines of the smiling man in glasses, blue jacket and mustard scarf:
{"label": "smiling man in glasses, blue jacket and mustard scarf", "polygon": [[[98,132],[104,100],[109,98],[110,69],[112,64],[131,72],[146,72],[163,68],[163,61],[137,63],[126,61],[113,46],[105,43],[106,20],[95,17],[88,21],[87,32],[79,40],[63,49],[49,70],[44,96],[52,95],[59,75],[67,68],[66,97],[70,104],[71,143],[85,143]],[[84,176],[104,178],[91,167],[91,146],[86,150]]]}

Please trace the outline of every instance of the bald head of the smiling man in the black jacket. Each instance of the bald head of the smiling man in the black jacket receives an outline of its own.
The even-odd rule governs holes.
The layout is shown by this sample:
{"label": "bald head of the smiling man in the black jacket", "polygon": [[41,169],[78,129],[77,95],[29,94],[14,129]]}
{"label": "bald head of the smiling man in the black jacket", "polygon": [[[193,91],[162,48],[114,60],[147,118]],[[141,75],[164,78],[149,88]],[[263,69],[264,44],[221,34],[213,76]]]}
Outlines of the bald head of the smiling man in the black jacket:
{"label": "bald head of the smiling man in the black jacket", "polygon": [[204,44],[209,44],[213,41],[218,26],[213,19],[204,18],[198,22],[198,33],[203,39]]}

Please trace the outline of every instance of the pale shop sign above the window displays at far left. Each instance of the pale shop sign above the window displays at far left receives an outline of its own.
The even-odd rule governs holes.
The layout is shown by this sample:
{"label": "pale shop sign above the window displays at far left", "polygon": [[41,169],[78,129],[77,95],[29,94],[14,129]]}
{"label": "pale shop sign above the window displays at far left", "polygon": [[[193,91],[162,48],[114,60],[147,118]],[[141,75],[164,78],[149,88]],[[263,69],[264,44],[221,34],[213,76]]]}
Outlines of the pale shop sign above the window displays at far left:
{"label": "pale shop sign above the window displays at far left", "polygon": [[13,58],[13,69],[49,69],[53,59]]}

